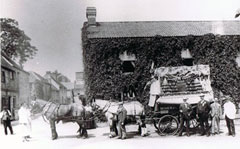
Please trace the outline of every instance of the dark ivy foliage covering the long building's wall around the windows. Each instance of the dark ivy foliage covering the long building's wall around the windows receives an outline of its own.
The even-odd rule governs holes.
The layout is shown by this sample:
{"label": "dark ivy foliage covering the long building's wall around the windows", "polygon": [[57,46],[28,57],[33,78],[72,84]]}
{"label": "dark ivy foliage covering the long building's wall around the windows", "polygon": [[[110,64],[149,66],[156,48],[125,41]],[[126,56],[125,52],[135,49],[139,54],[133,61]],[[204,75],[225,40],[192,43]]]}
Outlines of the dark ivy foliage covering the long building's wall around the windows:
{"label": "dark ivy foliage covering the long building's wall around the windows", "polygon": [[[92,38],[88,39],[85,26],[82,29],[86,95],[93,98],[101,93],[103,98],[115,98],[124,86],[133,85],[137,98],[145,101],[143,90],[150,80],[150,68],[182,66],[181,51],[188,48],[194,64],[208,64],[214,91],[240,97],[240,67],[236,57],[240,52],[240,36],[144,37],[144,38]],[[119,54],[127,51],[136,55],[136,67],[132,74],[122,73]]]}

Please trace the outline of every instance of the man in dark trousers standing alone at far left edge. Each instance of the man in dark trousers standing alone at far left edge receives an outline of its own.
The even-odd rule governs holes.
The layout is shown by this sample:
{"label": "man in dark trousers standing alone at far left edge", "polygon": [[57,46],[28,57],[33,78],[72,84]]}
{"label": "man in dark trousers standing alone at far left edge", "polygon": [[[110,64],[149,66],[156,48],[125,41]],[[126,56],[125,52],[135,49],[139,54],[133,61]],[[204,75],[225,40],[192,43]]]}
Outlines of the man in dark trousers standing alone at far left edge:
{"label": "man in dark trousers standing alone at far left edge", "polygon": [[11,124],[11,112],[6,106],[3,107],[3,111],[0,113],[0,117],[3,121],[5,135],[8,134],[7,128],[9,128],[11,134],[13,134],[12,124]]}

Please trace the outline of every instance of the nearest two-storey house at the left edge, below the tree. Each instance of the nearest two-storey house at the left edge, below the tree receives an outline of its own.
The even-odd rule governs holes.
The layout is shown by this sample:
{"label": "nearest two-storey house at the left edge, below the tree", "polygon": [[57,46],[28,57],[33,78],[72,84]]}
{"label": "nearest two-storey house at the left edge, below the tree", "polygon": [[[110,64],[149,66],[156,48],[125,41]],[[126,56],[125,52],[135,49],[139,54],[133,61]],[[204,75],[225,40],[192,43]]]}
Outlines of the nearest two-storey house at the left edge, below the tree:
{"label": "nearest two-storey house at the left edge, below the tree", "polygon": [[1,102],[16,118],[21,103],[30,102],[29,73],[1,52]]}

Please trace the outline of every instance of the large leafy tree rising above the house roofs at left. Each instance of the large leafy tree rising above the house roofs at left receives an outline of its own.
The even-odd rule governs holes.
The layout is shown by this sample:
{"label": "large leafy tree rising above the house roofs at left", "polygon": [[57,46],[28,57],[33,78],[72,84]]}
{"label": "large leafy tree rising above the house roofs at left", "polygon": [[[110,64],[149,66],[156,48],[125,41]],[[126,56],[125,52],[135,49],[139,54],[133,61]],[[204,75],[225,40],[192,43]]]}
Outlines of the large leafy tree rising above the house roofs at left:
{"label": "large leafy tree rising above the house roofs at left", "polygon": [[23,65],[36,55],[36,47],[30,44],[31,39],[19,29],[16,20],[0,18],[0,27],[1,50],[9,58],[17,59],[19,64]]}

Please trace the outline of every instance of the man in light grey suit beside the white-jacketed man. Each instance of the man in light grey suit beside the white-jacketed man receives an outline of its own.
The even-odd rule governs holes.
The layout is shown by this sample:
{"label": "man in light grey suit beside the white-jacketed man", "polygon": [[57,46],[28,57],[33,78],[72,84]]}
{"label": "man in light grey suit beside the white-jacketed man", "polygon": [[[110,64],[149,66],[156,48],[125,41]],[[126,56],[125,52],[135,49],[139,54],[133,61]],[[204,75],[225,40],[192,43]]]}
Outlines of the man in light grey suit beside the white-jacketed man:
{"label": "man in light grey suit beside the white-jacketed man", "polygon": [[222,114],[221,105],[218,103],[218,99],[214,98],[214,102],[211,104],[211,116],[212,116],[212,134],[220,133],[220,116]]}

